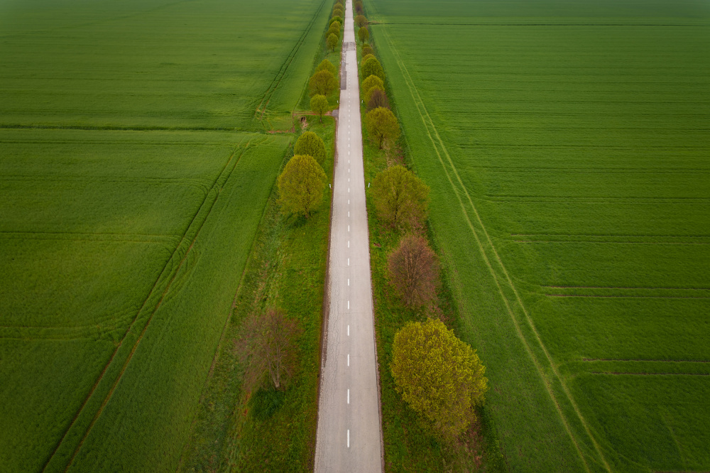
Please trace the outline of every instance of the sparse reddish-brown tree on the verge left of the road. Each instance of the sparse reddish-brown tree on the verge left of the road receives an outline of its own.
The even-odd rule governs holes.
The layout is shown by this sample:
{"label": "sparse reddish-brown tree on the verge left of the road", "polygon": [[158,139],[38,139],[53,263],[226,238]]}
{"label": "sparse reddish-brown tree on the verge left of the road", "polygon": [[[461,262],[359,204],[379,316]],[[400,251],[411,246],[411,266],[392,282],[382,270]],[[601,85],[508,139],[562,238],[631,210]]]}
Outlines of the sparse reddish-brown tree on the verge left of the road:
{"label": "sparse reddish-brown tree on the verge left of the road", "polygon": [[265,383],[273,384],[276,389],[288,386],[297,368],[300,334],[297,321],[278,309],[253,314],[244,322],[237,349],[245,365],[247,391],[254,392]]}

